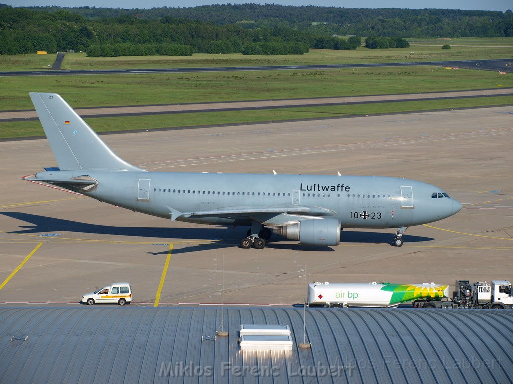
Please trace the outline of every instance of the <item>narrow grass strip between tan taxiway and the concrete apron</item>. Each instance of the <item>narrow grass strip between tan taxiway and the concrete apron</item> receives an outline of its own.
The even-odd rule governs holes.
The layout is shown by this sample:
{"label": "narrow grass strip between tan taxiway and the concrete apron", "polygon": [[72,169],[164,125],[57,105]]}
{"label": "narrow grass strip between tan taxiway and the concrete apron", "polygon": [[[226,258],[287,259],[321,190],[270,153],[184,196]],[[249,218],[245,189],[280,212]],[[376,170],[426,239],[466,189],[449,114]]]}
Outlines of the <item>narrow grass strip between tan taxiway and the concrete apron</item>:
{"label": "narrow grass strip between tan taxiway and the concrete apron", "polygon": [[[293,119],[323,118],[332,116],[372,115],[409,111],[455,109],[486,105],[513,105],[511,97],[487,97],[481,99],[452,99],[377,103],[359,105],[337,105],[311,108],[284,108],[262,111],[208,112],[194,114],[112,117],[85,119],[96,132],[126,130],[152,130],[179,126],[218,125],[248,122],[269,122]],[[343,129],[343,122],[340,123]],[[43,136],[38,121],[0,123],[0,139],[13,137]]]}

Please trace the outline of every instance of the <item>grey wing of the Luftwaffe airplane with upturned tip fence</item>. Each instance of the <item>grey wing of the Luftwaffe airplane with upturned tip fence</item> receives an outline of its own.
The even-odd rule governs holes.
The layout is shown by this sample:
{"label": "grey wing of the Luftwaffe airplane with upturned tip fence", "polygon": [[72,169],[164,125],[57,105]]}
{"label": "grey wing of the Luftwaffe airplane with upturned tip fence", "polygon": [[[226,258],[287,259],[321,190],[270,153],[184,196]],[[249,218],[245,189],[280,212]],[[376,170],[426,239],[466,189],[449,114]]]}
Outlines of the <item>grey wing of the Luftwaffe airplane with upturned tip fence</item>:
{"label": "grey wing of the Luftwaffe airplane with upturned tip fence", "polygon": [[180,216],[184,217],[219,217],[219,218],[234,218],[241,216],[254,216],[262,214],[290,214],[290,215],[304,215],[304,216],[333,216],[336,212],[321,207],[307,207],[307,206],[282,206],[282,207],[228,207],[221,209],[213,209],[208,211],[196,212],[178,212],[171,207],[167,207],[172,214],[172,220]]}

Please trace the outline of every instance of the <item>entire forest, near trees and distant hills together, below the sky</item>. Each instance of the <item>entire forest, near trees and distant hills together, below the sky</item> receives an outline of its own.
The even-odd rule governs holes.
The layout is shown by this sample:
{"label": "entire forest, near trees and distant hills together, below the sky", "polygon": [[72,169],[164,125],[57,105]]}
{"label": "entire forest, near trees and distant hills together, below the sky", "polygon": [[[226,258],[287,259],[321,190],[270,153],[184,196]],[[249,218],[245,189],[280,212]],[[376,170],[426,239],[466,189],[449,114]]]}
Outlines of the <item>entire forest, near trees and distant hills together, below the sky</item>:
{"label": "entire forest, near trees and distant hills together, below the sky", "polygon": [[[352,36],[343,38],[340,36]],[[124,10],[0,5],[0,54],[90,57],[405,48],[402,37],[513,35],[513,12],[216,5]]]}

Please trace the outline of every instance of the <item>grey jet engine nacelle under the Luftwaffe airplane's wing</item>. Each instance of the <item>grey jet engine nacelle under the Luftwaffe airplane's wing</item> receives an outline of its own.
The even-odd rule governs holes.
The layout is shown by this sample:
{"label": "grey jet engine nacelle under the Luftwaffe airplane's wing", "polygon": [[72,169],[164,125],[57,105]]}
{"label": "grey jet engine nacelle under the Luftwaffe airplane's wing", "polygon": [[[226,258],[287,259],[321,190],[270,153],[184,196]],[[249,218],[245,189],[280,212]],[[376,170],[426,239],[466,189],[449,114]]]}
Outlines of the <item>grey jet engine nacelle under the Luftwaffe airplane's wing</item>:
{"label": "grey jet engine nacelle under the Luftwaffe airplane's wing", "polygon": [[340,244],[340,221],[336,219],[302,220],[274,230],[288,240],[299,241],[302,245]]}

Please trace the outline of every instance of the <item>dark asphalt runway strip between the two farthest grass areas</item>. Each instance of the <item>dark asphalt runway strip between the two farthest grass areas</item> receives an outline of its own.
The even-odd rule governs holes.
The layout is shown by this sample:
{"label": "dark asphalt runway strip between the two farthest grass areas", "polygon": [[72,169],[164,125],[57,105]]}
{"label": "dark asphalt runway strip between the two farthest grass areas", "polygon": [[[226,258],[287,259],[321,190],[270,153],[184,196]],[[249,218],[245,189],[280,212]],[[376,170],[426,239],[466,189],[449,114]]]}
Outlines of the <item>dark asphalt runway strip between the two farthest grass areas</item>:
{"label": "dark asphalt runway strip between the two farthest grass areas", "polygon": [[309,65],[309,66],[263,66],[263,67],[219,67],[219,68],[163,68],[163,69],[116,69],[116,70],[77,70],[77,71],[16,71],[0,72],[0,77],[8,76],[73,76],[73,75],[130,75],[152,73],[189,73],[189,72],[234,72],[234,71],[282,71],[282,70],[323,70],[343,68],[372,67],[459,67],[503,71],[513,73],[513,59],[464,60],[464,61],[412,61],[363,64]]}

